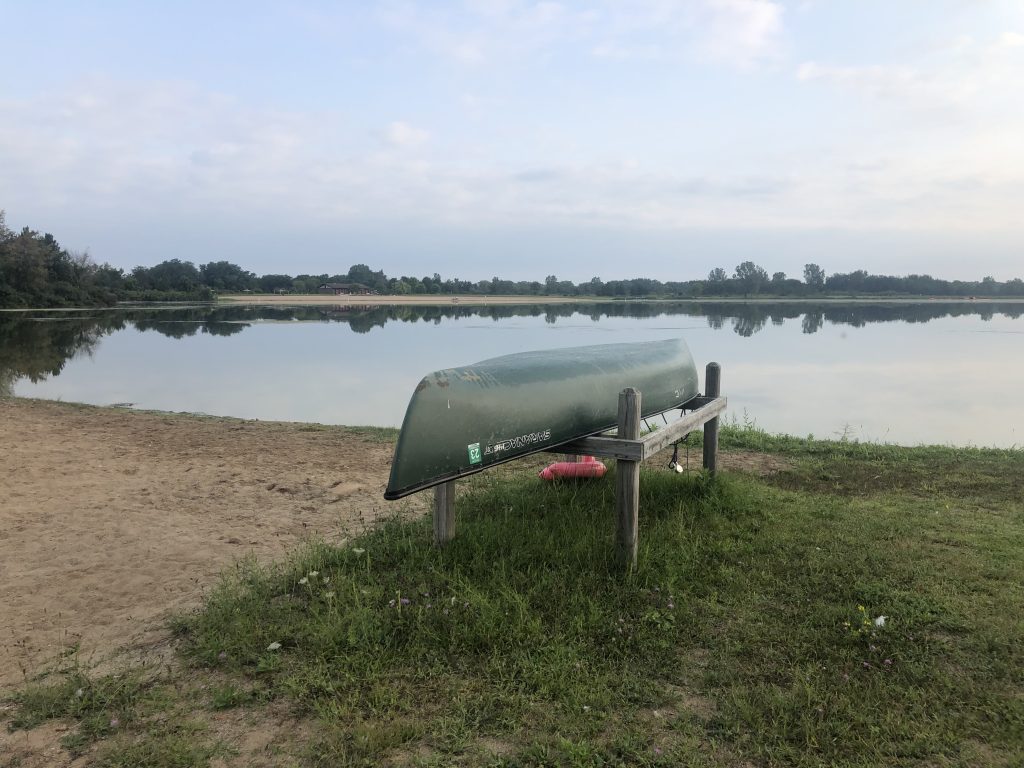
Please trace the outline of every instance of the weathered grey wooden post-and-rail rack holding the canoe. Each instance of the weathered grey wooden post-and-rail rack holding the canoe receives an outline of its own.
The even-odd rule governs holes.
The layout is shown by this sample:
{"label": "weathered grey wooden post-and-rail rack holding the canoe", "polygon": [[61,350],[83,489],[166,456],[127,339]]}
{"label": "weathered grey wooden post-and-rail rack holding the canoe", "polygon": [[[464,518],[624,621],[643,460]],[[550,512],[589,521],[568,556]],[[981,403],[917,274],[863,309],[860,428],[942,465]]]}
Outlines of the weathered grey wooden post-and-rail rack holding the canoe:
{"label": "weathered grey wooden post-and-rail rack holding the canoe", "polygon": [[[594,435],[563,442],[547,453],[596,456],[615,459],[615,507],[618,525],[615,552],[623,565],[632,569],[637,562],[637,528],[640,510],[640,463],[669,445],[679,442],[697,427],[703,426],[703,468],[712,476],[718,469],[719,416],[727,399],[721,394],[722,369],[709,362],[705,393],[686,403],[681,419],[643,437],[642,393],[629,387],[618,393],[618,425],[614,436]],[[434,542],[443,546],[455,537],[455,480],[434,487]]]}

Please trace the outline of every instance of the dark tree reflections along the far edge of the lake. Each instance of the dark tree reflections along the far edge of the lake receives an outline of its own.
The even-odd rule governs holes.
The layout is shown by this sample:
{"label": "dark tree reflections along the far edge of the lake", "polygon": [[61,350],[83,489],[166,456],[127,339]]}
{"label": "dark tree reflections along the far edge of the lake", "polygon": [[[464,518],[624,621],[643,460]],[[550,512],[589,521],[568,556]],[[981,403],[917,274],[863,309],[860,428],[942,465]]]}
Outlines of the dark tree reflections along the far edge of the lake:
{"label": "dark tree reflections along the far edge of the lake", "polygon": [[548,324],[573,315],[594,322],[612,317],[703,317],[712,329],[729,323],[742,337],[752,337],[768,321],[778,326],[800,321],[805,334],[820,331],[826,323],[862,327],[871,323],[928,323],[939,317],[974,315],[991,321],[996,314],[1017,318],[1024,304],[1000,302],[612,302],[522,305],[316,305],[316,306],[203,306],[129,308],[105,311],[0,313],[0,395],[8,396],[22,379],[41,381],[58,375],[67,362],[91,355],[108,334],[133,328],[172,339],[197,334],[231,336],[254,323],[340,323],[353,333],[368,334],[388,323],[434,323],[481,318],[495,322],[512,317],[543,316]]}

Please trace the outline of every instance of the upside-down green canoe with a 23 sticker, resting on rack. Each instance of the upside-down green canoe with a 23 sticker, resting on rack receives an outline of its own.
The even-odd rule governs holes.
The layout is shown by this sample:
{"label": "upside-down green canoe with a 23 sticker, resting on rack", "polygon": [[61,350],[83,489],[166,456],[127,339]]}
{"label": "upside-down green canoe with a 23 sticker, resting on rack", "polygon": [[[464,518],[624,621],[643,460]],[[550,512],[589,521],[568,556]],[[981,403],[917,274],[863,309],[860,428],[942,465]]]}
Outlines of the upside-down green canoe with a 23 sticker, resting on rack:
{"label": "upside-down green canoe with a 23 sticker, resting on rack", "polygon": [[644,416],[697,395],[682,339],[520,352],[424,377],[406,411],[385,499],[611,429],[618,393]]}

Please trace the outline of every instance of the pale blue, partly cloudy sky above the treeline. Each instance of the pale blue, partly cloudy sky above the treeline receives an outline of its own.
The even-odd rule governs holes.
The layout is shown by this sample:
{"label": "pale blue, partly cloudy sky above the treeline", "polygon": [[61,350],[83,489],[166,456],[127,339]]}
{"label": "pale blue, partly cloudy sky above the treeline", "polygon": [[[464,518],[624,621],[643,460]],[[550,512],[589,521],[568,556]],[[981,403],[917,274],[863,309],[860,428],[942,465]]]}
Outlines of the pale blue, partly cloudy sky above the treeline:
{"label": "pale blue, partly cloudy sky above the treeline", "polygon": [[7,225],[131,268],[1024,276],[1024,2],[0,0]]}

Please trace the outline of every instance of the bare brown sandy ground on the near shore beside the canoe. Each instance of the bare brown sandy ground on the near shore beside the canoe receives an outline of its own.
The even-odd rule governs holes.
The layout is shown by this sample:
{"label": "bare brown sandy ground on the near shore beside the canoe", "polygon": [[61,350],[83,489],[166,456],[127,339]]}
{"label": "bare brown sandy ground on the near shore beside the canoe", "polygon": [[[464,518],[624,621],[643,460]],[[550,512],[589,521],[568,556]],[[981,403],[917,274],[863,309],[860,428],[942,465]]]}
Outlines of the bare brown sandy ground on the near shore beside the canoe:
{"label": "bare brown sandy ground on the near shore beside the canoe", "polygon": [[14,399],[0,445],[0,693],[157,639],[244,555],[396,511],[391,444],[341,427]]}

